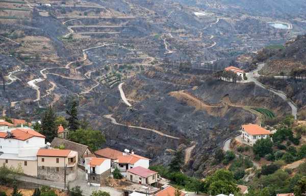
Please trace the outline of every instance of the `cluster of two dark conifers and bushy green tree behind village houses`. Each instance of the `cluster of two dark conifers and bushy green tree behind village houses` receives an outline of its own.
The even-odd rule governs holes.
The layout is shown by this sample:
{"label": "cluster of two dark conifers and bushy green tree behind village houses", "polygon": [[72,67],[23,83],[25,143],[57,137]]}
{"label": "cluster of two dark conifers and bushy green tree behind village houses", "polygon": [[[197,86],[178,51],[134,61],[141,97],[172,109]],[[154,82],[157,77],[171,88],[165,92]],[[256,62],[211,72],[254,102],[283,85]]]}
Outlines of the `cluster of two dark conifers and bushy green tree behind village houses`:
{"label": "cluster of two dark conifers and bushy green tree behind village houses", "polygon": [[42,118],[41,126],[36,123],[34,129],[46,136],[46,142],[52,142],[57,136],[58,126],[69,129],[68,138],[72,142],[87,145],[93,151],[106,142],[105,135],[100,130],[93,130],[85,115],[82,120],[78,118],[78,102],[72,101],[70,108],[66,109],[68,118],[57,117],[52,106],[49,106]]}

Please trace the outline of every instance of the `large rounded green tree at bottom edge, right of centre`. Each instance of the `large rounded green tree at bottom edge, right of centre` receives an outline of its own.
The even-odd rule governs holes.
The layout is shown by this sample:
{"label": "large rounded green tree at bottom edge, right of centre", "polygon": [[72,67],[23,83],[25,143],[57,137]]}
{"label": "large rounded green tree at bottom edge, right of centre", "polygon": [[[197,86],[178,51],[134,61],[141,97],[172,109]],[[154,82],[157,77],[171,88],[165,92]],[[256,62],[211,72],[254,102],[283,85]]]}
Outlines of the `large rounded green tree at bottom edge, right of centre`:
{"label": "large rounded green tree at bottom edge, right of centre", "polygon": [[239,191],[239,188],[234,180],[233,172],[224,169],[217,170],[205,180],[206,192],[212,191],[212,194],[216,195],[222,193],[222,190],[224,194]]}

